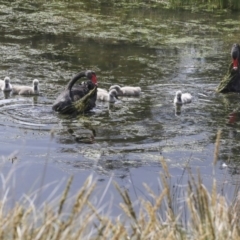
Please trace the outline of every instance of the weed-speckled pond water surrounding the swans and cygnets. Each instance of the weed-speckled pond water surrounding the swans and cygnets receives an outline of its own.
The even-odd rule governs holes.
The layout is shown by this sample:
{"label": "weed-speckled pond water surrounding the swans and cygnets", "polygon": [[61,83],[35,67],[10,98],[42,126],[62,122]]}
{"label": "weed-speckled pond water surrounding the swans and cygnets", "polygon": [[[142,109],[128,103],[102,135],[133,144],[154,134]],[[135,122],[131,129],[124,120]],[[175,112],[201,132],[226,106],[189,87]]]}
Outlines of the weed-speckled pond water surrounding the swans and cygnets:
{"label": "weed-speckled pond water surrounding the swans and cygnets", "polygon": [[[215,174],[220,185],[227,181],[234,189],[240,96],[214,90],[231,61],[232,44],[240,39],[239,20],[237,14],[93,8],[75,1],[3,2],[0,77],[28,85],[37,78],[42,94],[0,92],[2,188],[10,188],[14,202],[48,184],[41,203],[61,193],[71,175],[76,193],[93,174],[99,198],[114,199],[117,206],[120,198],[112,185],[101,193],[109,180],[127,188],[133,200],[145,196],[143,182],[159,191],[160,157],[173,183],[188,164],[211,186],[215,140],[222,130]],[[84,116],[53,112],[58,94],[85,69],[96,72],[99,87],[141,86],[142,94],[115,104],[97,102]],[[173,106],[177,90],[193,95],[178,114]],[[221,168],[222,163],[228,167]]]}

